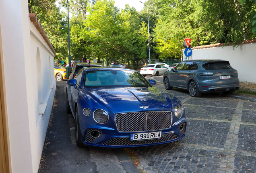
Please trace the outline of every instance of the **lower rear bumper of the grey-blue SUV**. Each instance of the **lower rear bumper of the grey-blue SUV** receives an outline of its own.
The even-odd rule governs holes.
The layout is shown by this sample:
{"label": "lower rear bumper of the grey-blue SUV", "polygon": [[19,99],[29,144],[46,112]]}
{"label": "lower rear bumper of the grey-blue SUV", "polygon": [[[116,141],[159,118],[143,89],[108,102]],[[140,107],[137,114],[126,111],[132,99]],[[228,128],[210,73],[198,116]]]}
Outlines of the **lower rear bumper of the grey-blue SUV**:
{"label": "lower rear bumper of the grey-blue SUV", "polygon": [[238,89],[239,89],[239,84],[217,85],[217,86],[211,86],[211,87],[200,87],[200,93],[235,91]]}

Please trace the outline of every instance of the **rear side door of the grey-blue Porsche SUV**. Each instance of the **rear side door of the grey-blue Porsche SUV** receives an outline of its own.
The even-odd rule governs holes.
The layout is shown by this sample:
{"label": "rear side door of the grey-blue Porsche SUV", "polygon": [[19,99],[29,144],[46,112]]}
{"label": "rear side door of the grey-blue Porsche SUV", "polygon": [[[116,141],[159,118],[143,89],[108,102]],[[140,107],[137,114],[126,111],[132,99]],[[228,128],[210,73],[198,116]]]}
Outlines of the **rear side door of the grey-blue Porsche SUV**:
{"label": "rear side door of the grey-blue Porsche SUV", "polygon": [[182,70],[180,70],[179,75],[180,75],[180,87],[182,88],[187,88],[187,81],[188,78],[192,75],[194,67],[194,62],[187,61]]}

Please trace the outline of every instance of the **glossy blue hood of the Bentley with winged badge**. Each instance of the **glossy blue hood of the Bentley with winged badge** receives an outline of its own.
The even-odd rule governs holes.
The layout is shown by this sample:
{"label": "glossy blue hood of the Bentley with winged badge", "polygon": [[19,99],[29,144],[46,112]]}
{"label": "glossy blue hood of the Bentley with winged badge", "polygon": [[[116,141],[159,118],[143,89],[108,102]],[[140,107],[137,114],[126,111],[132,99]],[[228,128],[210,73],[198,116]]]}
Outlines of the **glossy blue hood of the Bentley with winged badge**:
{"label": "glossy blue hood of the Bentley with winged badge", "polygon": [[149,110],[172,110],[171,99],[166,93],[151,88],[87,88],[95,99],[99,99],[115,113]]}

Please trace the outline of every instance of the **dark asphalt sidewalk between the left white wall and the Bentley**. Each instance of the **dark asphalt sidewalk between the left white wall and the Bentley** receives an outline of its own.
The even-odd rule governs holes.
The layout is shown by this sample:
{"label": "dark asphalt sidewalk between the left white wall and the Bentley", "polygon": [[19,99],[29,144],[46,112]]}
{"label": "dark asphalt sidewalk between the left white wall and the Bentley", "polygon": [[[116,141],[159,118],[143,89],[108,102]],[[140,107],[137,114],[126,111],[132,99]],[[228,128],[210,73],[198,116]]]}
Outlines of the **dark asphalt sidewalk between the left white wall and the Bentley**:
{"label": "dark asphalt sidewalk between the left white wall and the Bentley", "polygon": [[66,113],[66,81],[56,84],[38,173],[139,173],[123,149],[76,146],[74,118]]}

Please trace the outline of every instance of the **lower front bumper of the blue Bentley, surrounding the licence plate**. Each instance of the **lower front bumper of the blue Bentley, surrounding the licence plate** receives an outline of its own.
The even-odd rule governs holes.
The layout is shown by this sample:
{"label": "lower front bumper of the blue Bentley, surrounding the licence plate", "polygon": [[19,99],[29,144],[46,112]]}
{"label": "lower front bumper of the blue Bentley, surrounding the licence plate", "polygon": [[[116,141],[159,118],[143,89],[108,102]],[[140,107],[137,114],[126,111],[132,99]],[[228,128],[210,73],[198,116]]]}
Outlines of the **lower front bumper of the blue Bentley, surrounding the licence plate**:
{"label": "lower front bumper of the blue Bentley, surrounding the licence plate", "polygon": [[[183,128],[182,128],[183,126]],[[98,131],[99,136],[93,137],[92,131]],[[162,131],[162,137],[160,139],[142,140],[142,141],[131,141],[131,133],[121,133],[116,130],[109,129],[83,129],[81,133],[83,135],[83,144],[97,147],[141,147],[149,145],[157,145],[178,141],[185,136],[186,132],[186,121],[180,121],[179,124],[173,125],[169,129],[157,130]],[[155,132],[155,131],[147,131]],[[145,132],[134,132],[134,133],[145,133]]]}

